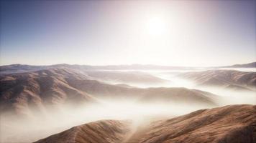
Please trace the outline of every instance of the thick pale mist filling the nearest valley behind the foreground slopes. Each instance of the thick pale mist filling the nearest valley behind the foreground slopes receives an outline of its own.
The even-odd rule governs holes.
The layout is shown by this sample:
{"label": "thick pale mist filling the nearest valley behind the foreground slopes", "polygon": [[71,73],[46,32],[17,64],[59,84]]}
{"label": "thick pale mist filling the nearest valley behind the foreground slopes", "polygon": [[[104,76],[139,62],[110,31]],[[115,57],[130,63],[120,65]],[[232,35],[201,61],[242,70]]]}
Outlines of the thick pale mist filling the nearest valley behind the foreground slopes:
{"label": "thick pale mist filling the nearest valley behind the foreground slopes", "polygon": [[128,119],[141,124],[146,120],[175,117],[202,108],[210,106],[104,99],[102,104],[61,107],[58,111],[47,110],[45,114],[24,118],[9,114],[1,117],[1,142],[35,142],[70,127],[101,119]]}

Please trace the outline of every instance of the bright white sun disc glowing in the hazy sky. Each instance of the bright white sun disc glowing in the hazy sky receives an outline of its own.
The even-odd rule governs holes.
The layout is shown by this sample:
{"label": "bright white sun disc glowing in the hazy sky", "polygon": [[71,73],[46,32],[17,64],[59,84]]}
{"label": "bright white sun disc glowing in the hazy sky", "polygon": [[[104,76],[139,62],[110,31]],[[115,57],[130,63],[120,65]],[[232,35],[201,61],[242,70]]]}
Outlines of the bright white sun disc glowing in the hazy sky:
{"label": "bright white sun disc glowing in the hazy sky", "polygon": [[166,31],[166,22],[162,16],[152,16],[147,20],[146,29],[152,36],[162,35]]}

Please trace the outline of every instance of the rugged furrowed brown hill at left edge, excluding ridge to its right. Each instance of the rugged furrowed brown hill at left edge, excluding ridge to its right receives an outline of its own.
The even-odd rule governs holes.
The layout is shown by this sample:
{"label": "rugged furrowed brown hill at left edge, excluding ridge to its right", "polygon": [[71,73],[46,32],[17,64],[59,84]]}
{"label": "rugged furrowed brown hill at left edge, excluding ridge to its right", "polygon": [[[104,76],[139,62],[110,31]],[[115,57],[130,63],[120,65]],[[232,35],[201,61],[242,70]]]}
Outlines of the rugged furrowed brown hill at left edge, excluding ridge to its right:
{"label": "rugged furrowed brown hill at left edge, excluding ridge to its right", "polygon": [[29,114],[31,109],[42,111],[45,107],[73,102],[96,102],[90,94],[71,87],[68,79],[86,79],[68,69],[47,69],[0,77],[1,112],[12,110]]}

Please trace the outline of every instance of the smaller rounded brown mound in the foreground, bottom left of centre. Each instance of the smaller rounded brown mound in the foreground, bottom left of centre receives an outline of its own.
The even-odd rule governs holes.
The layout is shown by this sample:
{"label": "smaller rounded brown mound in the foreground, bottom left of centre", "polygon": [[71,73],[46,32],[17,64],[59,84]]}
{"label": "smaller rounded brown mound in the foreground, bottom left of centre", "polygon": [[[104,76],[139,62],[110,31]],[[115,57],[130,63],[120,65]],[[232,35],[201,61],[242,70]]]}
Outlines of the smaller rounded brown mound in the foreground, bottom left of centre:
{"label": "smaller rounded brown mound in the foreground, bottom left of centre", "polygon": [[102,120],[73,127],[36,143],[119,143],[129,133],[130,122]]}

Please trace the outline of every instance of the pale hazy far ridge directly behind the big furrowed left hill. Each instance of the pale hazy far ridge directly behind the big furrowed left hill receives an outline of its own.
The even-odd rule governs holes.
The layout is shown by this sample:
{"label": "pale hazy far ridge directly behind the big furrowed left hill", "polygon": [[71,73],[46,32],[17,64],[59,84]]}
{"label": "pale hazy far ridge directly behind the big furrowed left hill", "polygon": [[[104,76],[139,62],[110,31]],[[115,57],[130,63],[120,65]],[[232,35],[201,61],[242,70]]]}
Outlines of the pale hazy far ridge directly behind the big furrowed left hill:
{"label": "pale hazy far ridge directly behind the big furrowed left hill", "polygon": [[51,69],[69,69],[77,71],[81,74],[96,79],[101,82],[110,82],[113,84],[163,84],[168,82],[159,77],[152,76],[141,71],[109,71],[102,70],[108,66],[102,66],[99,70],[97,66],[86,66],[86,65],[70,65],[70,64],[54,64],[50,66],[30,66],[25,64],[12,64],[6,66],[0,66],[0,74],[18,74],[32,71],[51,70]]}

